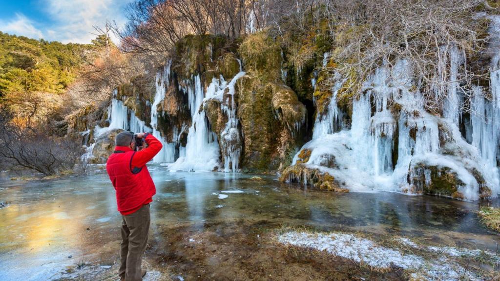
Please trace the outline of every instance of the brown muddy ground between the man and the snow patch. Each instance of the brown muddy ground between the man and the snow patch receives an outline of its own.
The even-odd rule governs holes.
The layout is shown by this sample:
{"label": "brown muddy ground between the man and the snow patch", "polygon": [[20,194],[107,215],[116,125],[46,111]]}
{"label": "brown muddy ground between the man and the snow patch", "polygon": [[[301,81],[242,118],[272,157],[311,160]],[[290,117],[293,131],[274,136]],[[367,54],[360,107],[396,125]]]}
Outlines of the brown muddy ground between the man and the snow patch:
{"label": "brown muddy ground between the man and the snow patch", "polygon": [[162,231],[166,244],[150,241],[146,256],[173,279],[184,280],[401,280],[401,269],[377,272],[352,260],[286,247],[273,240],[280,225],[245,220]]}

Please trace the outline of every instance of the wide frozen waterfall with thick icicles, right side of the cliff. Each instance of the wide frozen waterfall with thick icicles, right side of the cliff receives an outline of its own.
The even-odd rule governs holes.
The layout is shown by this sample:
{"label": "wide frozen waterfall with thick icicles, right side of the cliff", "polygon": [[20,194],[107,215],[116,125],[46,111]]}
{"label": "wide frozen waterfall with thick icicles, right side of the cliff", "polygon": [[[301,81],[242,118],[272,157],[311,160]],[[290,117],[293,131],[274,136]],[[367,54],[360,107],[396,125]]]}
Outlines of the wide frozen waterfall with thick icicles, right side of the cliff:
{"label": "wide frozen waterfall with thick icicles, right side of the cliff", "polygon": [[[492,17],[489,31],[498,41],[500,17]],[[496,42],[497,43],[497,42]],[[459,181],[457,197],[466,200],[500,193],[500,51],[491,58],[491,96],[474,87],[464,98],[457,76],[464,63],[458,47],[441,47],[448,73],[436,96],[444,96],[442,116],[425,110],[422,94],[412,81],[411,65],[398,59],[383,63],[363,83],[352,102],[350,127],[344,125],[345,112],[337,106],[337,91],[344,83],[339,77],[332,88],[327,112],[317,114],[312,140],[302,146],[311,150],[304,163],[328,172],[353,191],[388,190],[421,192],[431,183],[428,167],[445,168]],[[443,70],[443,69],[441,69]],[[449,82],[448,82],[449,81]],[[464,104],[470,102],[470,117]],[[397,108],[397,109],[394,109]],[[396,112],[394,112],[396,111]],[[302,150],[301,149],[301,150]],[[297,163],[299,153],[293,158]],[[334,159],[326,166],[324,159]],[[424,180],[414,181],[415,178]],[[422,183],[423,182],[423,183]]]}

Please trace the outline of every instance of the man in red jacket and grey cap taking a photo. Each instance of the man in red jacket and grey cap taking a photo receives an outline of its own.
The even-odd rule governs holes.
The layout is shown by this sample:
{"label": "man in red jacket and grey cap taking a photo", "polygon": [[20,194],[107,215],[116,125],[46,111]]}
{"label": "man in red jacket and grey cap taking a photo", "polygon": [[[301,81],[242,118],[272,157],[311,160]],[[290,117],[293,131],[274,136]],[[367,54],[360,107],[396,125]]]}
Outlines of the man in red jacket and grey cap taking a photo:
{"label": "man in red jacket and grey cap taking a photo", "polygon": [[140,269],[142,253],[149,231],[149,203],[156,193],[146,163],[161,150],[161,142],[149,133],[138,133],[146,148],[135,151],[132,132],[120,132],[115,137],[114,152],[106,162],[109,179],[116,190],[116,203],[121,213],[120,268],[121,281],[139,281],[146,274]]}

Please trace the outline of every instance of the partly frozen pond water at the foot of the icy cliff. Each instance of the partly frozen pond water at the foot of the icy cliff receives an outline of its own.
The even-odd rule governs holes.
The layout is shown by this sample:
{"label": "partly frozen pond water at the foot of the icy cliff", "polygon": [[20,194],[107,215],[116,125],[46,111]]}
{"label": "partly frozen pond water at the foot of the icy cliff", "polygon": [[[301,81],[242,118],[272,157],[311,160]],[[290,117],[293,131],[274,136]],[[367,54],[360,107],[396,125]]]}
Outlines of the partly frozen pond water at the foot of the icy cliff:
{"label": "partly frozen pond water at the foot of the icy cliff", "polygon": [[[196,263],[204,264],[203,270],[221,263],[208,255],[196,261],[183,250],[189,243],[208,243],[215,252],[231,238],[251,236],[258,247],[266,231],[280,227],[399,235],[490,251],[500,242],[478,222],[478,202],[334,193],[281,183],[274,176],[168,172],[161,166],[152,166],[151,175],[157,193],[145,258],[187,277],[203,278],[194,276],[202,274],[194,272]],[[0,186],[0,280],[50,280],[83,262],[115,262],[121,216],[105,173],[32,181],[9,180],[3,173]],[[498,201],[488,204],[498,206]],[[218,238],[208,238],[208,232]],[[217,279],[222,274],[217,272],[210,277]]]}

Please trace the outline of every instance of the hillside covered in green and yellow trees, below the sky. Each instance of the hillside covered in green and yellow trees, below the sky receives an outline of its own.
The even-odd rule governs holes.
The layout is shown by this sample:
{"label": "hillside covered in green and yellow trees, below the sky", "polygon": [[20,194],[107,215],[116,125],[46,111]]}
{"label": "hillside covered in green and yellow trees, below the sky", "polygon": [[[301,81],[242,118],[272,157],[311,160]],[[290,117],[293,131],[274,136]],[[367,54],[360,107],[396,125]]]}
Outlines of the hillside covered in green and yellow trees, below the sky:
{"label": "hillside covered in green and yellow trees, below the sky", "polygon": [[0,97],[15,100],[23,91],[63,93],[95,49],[91,44],[62,44],[0,32]]}

